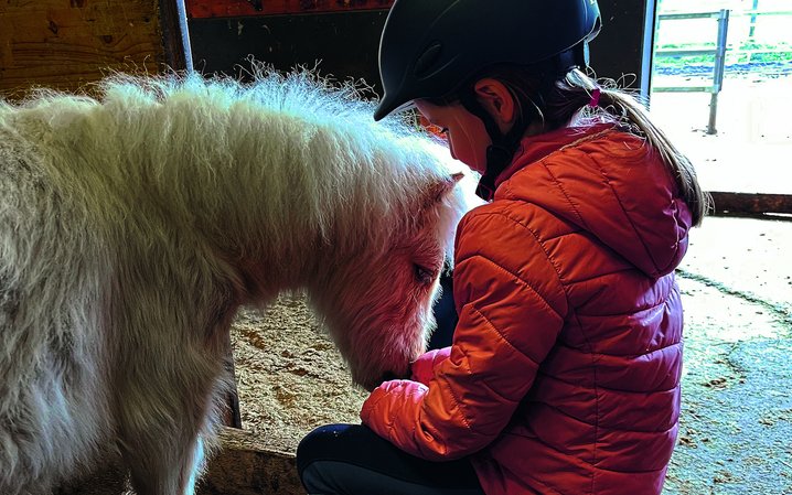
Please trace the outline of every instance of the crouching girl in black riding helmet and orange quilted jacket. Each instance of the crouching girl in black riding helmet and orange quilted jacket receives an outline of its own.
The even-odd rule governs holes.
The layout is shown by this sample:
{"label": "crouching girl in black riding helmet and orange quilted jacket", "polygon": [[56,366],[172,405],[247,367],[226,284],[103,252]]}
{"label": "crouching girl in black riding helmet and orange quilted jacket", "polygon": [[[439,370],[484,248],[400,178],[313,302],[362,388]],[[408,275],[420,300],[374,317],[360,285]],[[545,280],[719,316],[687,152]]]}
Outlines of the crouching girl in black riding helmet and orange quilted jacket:
{"label": "crouching girl in black riding helmet and orange quilted jacket", "polygon": [[707,209],[691,163],[585,74],[596,0],[397,0],[381,119],[414,104],[490,202],[457,234],[450,347],[363,426],[298,449],[310,494],[660,494],[676,442],[674,269]]}

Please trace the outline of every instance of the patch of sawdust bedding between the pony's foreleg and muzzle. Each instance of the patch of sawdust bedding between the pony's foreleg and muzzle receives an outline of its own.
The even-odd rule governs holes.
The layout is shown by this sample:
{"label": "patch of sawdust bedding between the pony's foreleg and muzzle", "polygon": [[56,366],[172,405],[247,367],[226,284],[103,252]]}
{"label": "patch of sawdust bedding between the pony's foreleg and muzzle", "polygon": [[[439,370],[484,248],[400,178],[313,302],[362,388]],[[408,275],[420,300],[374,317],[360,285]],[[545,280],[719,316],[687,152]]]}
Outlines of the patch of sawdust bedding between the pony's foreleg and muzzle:
{"label": "patch of sawdust bedding between the pony's foreleg and muzzle", "polygon": [[232,326],[242,427],[261,444],[293,453],[314,428],[358,423],[367,394],[301,295],[243,310]]}

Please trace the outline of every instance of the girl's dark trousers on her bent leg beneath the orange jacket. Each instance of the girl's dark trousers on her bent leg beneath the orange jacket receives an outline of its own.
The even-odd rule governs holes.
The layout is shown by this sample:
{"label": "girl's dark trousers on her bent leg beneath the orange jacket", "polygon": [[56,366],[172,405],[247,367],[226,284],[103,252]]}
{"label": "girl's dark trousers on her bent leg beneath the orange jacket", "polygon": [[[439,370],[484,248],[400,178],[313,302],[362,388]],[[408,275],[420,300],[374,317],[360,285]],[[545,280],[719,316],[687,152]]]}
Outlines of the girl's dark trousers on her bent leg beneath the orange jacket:
{"label": "girl's dark trousers on her bent leg beneath the orange jacket", "polygon": [[425,461],[362,424],[313,430],[297,469],[310,495],[484,495],[469,460]]}

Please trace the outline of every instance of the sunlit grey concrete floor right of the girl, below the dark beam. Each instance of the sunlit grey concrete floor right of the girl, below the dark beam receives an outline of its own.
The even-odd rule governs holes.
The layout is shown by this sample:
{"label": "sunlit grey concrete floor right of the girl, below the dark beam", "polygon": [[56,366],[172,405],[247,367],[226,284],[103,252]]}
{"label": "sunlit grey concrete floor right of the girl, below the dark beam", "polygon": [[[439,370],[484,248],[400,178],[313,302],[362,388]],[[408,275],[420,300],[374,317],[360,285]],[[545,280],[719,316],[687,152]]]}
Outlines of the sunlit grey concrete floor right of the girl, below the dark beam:
{"label": "sunlit grey concrete floor right of the girl, below the dark beam", "polygon": [[792,494],[792,222],[709,217],[678,270],[679,444],[665,494]]}

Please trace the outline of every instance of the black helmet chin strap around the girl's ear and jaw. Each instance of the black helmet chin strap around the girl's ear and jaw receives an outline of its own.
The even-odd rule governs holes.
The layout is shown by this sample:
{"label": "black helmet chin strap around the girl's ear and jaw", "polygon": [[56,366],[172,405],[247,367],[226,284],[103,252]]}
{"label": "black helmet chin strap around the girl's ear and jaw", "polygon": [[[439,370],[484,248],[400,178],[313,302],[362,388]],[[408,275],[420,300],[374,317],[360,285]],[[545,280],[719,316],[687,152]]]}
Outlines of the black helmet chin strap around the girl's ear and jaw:
{"label": "black helmet chin strap around the girl's ear and jaw", "polygon": [[483,123],[490,137],[491,144],[486,147],[486,170],[479,181],[475,194],[482,200],[492,200],[495,193],[495,180],[512,162],[514,153],[520,147],[526,126],[521,115],[514,121],[512,128],[505,134],[501,132],[497,122],[489,111],[475,98],[471,89],[463,92],[460,101],[465,110],[478,117]]}

